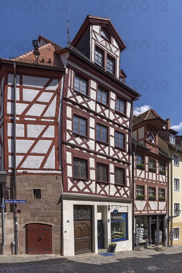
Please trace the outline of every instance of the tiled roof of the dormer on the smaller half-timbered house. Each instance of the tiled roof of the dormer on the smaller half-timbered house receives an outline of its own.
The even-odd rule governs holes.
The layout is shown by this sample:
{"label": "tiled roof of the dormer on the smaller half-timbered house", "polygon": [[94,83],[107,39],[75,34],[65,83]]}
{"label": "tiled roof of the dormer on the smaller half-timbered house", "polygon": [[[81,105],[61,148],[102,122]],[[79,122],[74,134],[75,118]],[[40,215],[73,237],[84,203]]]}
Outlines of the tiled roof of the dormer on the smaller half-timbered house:
{"label": "tiled roof of the dormer on the smaller half-timbered house", "polygon": [[163,120],[155,110],[149,109],[148,111],[140,114],[139,116],[133,117],[133,126],[138,125],[139,123],[145,122],[145,121],[152,121],[152,120],[160,120],[164,125],[166,124],[166,121]]}

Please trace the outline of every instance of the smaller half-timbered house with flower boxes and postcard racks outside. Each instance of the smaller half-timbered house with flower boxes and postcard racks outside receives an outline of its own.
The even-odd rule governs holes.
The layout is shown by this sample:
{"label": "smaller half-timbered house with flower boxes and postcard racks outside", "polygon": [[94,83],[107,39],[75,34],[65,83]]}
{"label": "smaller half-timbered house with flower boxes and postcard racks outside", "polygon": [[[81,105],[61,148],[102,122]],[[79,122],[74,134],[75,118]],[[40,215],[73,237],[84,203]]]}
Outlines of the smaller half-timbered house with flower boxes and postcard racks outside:
{"label": "smaller half-timbered house with flower boxes and postcard racks outside", "polygon": [[155,230],[162,231],[162,243],[166,244],[170,157],[158,141],[159,130],[165,125],[153,109],[133,118],[135,225],[144,228],[143,239],[149,244],[155,243]]}

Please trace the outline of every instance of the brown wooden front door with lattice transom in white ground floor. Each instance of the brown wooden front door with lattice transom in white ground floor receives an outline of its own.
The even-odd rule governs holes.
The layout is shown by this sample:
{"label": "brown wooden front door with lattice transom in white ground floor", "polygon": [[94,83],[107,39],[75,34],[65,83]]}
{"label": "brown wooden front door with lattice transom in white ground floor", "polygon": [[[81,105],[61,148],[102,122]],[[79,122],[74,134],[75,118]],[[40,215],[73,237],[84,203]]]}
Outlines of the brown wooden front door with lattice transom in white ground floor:
{"label": "brown wooden front door with lattice transom in white ground floor", "polygon": [[91,206],[74,206],[74,252],[92,251]]}

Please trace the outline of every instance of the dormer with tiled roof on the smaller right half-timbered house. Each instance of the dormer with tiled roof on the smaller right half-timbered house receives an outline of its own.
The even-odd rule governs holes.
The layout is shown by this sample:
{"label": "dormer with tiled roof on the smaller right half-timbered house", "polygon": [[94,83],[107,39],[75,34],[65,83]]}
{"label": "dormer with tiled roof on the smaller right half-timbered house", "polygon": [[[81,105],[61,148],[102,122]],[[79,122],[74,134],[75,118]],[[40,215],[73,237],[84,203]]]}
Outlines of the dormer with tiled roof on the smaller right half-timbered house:
{"label": "dormer with tiled roof on the smaller right half-timbered house", "polygon": [[158,131],[166,125],[153,109],[133,118],[133,138],[154,153],[158,153]]}

